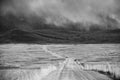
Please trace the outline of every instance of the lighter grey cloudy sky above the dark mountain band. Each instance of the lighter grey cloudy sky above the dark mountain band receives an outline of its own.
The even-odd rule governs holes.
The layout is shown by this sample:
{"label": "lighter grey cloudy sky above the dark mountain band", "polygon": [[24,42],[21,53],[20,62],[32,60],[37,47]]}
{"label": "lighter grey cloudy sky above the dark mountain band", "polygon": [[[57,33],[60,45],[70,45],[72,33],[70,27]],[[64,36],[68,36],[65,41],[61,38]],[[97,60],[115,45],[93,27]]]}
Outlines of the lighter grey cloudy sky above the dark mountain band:
{"label": "lighter grey cloudy sky above the dark mountain band", "polygon": [[48,22],[101,23],[100,15],[120,19],[120,0],[2,0],[1,4],[3,14],[35,15]]}

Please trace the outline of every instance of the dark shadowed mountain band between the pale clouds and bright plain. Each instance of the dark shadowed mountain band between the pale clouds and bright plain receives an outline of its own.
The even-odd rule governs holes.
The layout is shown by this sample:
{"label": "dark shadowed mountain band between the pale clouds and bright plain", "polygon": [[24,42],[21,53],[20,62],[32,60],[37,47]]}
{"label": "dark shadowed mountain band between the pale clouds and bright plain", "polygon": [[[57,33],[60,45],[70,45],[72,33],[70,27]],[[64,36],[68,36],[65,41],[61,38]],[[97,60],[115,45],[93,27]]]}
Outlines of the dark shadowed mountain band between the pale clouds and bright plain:
{"label": "dark shadowed mountain band between the pale clouds and bright plain", "polygon": [[86,30],[86,25],[81,23],[57,26],[46,23],[43,18],[28,20],[13,15],[0,18],[0,43],[120,43],[118,28],[104,29],[93,24]]}

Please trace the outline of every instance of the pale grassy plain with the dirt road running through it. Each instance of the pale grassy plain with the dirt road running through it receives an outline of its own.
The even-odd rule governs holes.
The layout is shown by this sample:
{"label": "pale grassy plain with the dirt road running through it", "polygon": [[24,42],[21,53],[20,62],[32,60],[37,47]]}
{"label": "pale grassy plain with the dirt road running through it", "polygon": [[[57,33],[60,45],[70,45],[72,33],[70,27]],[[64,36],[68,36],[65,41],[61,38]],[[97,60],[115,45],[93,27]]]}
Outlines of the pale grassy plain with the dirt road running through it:
{"label": "pale grassy plain with the dirt road running through it", "polygon": [[0,45],[0,80],[116,80],[120,44]]}

